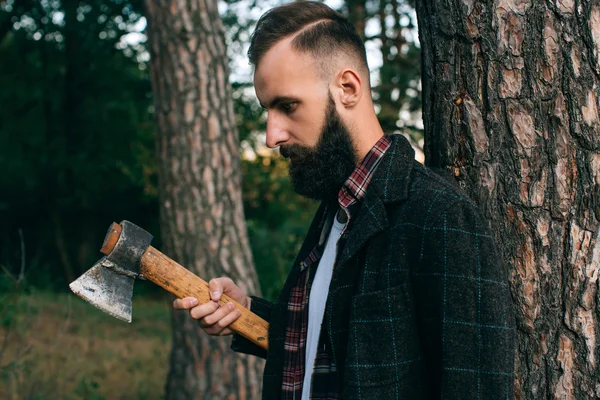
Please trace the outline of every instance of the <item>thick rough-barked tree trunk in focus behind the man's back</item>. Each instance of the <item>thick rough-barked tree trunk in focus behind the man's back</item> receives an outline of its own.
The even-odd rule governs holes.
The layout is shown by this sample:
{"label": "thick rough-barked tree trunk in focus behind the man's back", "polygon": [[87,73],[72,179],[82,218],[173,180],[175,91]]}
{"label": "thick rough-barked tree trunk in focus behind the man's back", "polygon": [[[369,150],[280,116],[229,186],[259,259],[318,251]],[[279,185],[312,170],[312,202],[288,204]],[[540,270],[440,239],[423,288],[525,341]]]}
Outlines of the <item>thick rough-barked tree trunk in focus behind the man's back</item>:
{"label": "thick rough-barked tree trunk in focus behind the man's back", "polygon": [[491,221],[517,399],[600,396],[600,2],[424,0],[425,154]]}

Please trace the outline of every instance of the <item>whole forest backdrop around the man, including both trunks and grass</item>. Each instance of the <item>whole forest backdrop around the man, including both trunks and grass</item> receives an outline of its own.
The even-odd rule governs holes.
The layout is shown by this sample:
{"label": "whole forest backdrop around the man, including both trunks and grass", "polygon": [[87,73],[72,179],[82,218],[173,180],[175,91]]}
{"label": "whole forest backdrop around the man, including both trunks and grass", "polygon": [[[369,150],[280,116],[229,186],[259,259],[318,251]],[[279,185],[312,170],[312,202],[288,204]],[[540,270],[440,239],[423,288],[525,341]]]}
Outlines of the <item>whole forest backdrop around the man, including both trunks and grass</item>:
{"label": "whole forest backdrop around the man, including both trunks and grass", "polygon": [[[385,131],[489,222],[515,398],[600,398],[600,0],[327,3],[365,39]],[[262,361],[164,291],[139,282],[127,325],[67,285],[127,219],[277,296],[316,206],[264,148],[245,59],[278,4],[0,1],[0,398],[259,398]]]}

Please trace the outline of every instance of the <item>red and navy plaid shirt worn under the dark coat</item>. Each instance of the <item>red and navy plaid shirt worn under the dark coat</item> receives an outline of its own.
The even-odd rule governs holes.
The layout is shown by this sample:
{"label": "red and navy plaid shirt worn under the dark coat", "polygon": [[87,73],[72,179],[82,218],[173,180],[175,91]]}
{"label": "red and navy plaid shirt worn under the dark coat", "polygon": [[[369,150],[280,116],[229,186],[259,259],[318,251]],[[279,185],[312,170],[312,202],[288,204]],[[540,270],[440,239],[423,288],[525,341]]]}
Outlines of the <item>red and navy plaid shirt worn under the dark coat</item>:
{"label": "red and navy plaid shirt worn under the dark coat", "polygon": [[[371,148],[363,161],[356,167],[350,177],[344,183],[338,194],[338,204],[348,216],[348,222],[344,227],[349,226],[352,215],[356,210],[360,200],[364,198],[367,187],[371,182],[371,177],[379,161],[386,150],[390,147],[391,140],[383,136]],[[324,213],[321,221],[321,229],[325,228],[328,212]],[[344,231],[342,231],[342,236]],[[302,396],[302,384],[305,373],[305,352],[306,337],[308,330],[308,298],[312,279],[314,278],[316,267],[323,255],[325,240],[319,241],[319,244],[310,252],[308,257],[301,263],[301,272],[296,285],[292,288],[289,302],[287,327],[285,331],[284,355],[283,355],[283,380],[282,380],[282,399],[300,399]],[[341,239],[340,239],[341,240]],[[311,266],[314,266],[311,268]],[[310,367],[309,367],[310,368]],[[311,399],[336,399],[337,393],[337,368],[332,362],[331,351],[324,338],[323,331],[319,338],[317,347],[317,356],[313,366],[313,376],[311,384]]]}

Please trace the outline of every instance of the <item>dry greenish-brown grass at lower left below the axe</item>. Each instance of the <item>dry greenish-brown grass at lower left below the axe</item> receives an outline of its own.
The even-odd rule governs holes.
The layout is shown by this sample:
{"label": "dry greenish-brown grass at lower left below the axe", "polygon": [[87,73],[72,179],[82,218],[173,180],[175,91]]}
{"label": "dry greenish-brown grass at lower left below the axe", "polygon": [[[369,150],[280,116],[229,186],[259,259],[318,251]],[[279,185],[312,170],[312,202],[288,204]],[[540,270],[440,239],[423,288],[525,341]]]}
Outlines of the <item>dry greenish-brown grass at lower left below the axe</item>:
{"label": "dry greenish-brown grass at lower left below the axe", "polygon": [[166,297],[134,296],[131,324],[71,293],[1,293],[0,399],[161,399]]}

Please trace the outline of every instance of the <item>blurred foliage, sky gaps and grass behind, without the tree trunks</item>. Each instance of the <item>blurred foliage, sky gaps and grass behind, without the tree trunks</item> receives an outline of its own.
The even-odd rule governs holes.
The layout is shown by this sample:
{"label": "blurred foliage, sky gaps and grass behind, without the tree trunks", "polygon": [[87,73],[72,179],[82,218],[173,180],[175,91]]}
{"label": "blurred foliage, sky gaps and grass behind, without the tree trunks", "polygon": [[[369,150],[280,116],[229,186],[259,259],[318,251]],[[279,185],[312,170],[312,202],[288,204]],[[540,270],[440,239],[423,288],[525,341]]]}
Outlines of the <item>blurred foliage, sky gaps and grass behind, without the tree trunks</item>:
{"label": "blurred foliage, sky gaps and grass behind, without the tree trunks", "polygon": [[[292,191],[287,163],[264,147],[265,116],[245,57],[258,17],[282,3],[219,2],[245,221],[269,299],[277,296],[316,209]],[[384,129],[407,135],[420,153],[414,4],[326,3],[365,39]],[[0,398],[164,393],[169,297],[138,283],[134,322],[123,326],[68,291],[99,258],[113,221],[145,228],[162,248],[144,13],[138,0],[0,2]]]}

